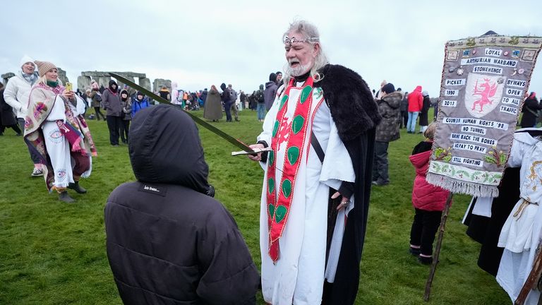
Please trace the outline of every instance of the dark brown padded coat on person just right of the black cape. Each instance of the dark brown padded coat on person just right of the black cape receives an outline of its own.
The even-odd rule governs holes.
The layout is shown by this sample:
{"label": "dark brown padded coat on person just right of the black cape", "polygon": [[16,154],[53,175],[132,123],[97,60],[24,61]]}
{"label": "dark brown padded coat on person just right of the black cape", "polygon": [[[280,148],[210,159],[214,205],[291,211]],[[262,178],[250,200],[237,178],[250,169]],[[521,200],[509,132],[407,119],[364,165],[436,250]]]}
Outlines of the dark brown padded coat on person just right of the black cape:
{"label": "dark brown padded coat on person just right of the black cape", "polygon": [[399,136],[399,124],[401,123],[401,93],[392,92],[382,100],[376,100],[378,111],[382,121],[376,127],[376,140],[379,142],[391,142]]}

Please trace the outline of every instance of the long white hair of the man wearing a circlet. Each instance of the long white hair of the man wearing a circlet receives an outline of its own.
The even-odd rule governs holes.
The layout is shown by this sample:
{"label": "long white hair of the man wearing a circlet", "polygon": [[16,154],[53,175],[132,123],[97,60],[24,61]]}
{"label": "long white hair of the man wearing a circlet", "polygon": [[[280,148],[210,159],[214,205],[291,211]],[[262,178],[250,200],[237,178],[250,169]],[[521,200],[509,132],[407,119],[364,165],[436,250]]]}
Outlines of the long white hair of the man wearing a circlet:
{"label": "long white hair of the man wearing a circlet", "polygon": [[[315,82],[322,80],[324,76],[318,73],[318,70],[329,64],[329,61],[327,61],[327,56],[325,56],[325,53],[323,51],[318,28],[316,28],[316,26],[312,23],[308,23],[308,21],[306,20],[294,21],[293,23],[290,23],[288,30],[284,32],[284,35],[282,35],[283,42],[284,38],[286,38],[289,32],[300,32],[301,35],[303,35],[303,38],[301,40],[306,40],[307,43],[313,46],[317,43],[320,44],[320,50],[318,54],[316,54],[314,58],[314,65],[311,68],[311,76],[313,77]],[[286,63],[284,65],[284,83],[287,84],[292,77],[294,77],[294,75],[292,75],[290,65]]]}

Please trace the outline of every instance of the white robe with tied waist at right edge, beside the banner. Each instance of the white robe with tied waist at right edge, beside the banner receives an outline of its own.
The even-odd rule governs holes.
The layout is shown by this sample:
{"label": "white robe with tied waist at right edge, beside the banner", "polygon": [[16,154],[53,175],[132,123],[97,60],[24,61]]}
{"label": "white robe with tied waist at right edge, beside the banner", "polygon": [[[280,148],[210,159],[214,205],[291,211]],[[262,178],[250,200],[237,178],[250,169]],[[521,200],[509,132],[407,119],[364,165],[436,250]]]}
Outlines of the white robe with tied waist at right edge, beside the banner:
{"label": "white robe with tied waist at right edge, beside the banner", "polygon": [[[520,199],[512,209],[500,233],[498,246],[504,247],[497,282],[514,302],[534,262],[542,234],[542,141],[529,133],[515,133],[508,166],[521,167]],[[533,175],[534,174],[534,175]],[[529,204],[514,217],[523,199]],[[540,292],[531,290],[525,304],[537,304]]]}

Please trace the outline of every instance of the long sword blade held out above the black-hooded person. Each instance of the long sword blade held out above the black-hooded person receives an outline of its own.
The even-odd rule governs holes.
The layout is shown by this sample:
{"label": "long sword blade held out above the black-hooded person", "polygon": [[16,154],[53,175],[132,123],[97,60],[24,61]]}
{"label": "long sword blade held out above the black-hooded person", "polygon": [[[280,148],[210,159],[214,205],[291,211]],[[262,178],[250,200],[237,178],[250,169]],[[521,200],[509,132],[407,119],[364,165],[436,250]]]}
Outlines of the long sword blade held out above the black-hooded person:
{"label": "long sword blade held out above the black-hooded person", "polygon": [[129,85],[132,88],[135,88],[147,95],[148,97],[152,97],[153,100],[157,100],[160,104],[170,104],[174,107],[177,107],[181,109],[184,113],[188,114],[188,116],[191,117],[196,123],[200,124],[203,128],[206,128],[208,131],[211,131],[212,133],[215,133],[215,135],[219,136],[220,138],[223,138],[224,140],[227,140],[229,143],[235,145],[237,148],[241,148],[241,150],[254,153],[254,150],[245,143],[242,143],[240,140],[237,140],[236,138],[230,136],[229,134],[225,133],[224,131],[221,131],[219,128],[216,128],[215,126],[212,126],[211,124],[207,123],[203,119],[200,119],[198,116],[195,116],[194,114],[191,114],[190,112],[187,112],[185,109],[180,107],[179,105],[173,104],[169,102],[168,100],[162,98],[159,95],[156,95],[150,90],[147,90],[140,85],[134,83],[133,81],[129,80],[128,78],[124,78],[123,76],[120,76],[117,73],[109,72],[109,75],[113,76],[117,80],[121,80],[122,83],[125,83],[126,85]]}

